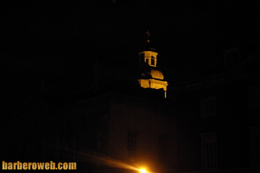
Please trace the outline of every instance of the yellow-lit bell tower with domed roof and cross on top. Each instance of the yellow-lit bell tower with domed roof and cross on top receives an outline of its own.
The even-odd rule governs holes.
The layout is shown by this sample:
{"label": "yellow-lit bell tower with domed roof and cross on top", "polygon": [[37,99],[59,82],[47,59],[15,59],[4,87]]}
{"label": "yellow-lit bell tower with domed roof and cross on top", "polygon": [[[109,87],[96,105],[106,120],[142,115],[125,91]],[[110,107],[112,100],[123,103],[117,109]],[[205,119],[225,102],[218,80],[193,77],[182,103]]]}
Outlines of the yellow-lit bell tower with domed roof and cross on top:
{"label": "yellow-lit bell tower with domed roof and cross on top", "polygon": [[[149,36],[151,33],[149,31],[147,34],[147,42],[150,42]],[[141,77],[138,79],[140,85],[143,88],[151,89],[164,89],[165,98],[168,82],[164,80],[163,73],[157,68],[157,55],[158,53],[154,51],[153,48],[148,48],[145,51],[139,53],[139,57],[142,61],[146,63],[144,69],[142,69]]]}

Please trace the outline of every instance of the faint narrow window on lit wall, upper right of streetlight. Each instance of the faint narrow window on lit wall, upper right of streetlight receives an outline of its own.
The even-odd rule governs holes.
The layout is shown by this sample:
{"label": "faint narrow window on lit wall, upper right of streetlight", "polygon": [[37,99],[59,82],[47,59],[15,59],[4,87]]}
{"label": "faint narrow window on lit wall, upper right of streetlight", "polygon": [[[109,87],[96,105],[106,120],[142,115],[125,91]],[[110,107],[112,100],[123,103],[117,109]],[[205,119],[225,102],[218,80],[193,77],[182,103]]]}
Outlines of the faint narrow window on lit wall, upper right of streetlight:
{"label": "faint narrow window on lit wall, upper right of streetlight", "polygon": [[164,161],[166,160],[167,156],[167,143],[168,143],[168,135],[167,134],[160,134],[159,135],[159,153],[158,153],[158,160]]}

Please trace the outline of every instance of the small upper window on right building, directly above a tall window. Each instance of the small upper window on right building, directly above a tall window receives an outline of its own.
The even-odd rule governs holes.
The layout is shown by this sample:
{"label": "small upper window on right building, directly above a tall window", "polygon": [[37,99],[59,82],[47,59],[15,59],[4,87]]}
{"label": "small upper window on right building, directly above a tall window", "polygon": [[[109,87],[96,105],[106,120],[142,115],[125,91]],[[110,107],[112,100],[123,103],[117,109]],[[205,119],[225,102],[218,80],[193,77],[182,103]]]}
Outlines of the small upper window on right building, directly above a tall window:
{"label": "small upper window on right building, directly above a tall window", "polygon": [[201,98],[201,117],[216,116],[216,97]]}

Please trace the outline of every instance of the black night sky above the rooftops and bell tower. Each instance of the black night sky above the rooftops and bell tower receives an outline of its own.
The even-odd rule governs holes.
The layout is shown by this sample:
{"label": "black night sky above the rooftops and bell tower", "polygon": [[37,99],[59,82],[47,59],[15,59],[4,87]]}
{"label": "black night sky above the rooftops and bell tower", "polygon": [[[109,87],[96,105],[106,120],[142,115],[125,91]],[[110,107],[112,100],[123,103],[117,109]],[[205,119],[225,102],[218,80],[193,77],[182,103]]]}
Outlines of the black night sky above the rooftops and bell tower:
{"label": "black night sky above the rooftops and bell tower", "polygon": [[32,73],[84,80],[100,57],[136,60],[147,29],[167,81],[181,81],[206,73],[224,50],[256,47],[260,38],[258,1],[25,1],[3,7],[6,82]]}

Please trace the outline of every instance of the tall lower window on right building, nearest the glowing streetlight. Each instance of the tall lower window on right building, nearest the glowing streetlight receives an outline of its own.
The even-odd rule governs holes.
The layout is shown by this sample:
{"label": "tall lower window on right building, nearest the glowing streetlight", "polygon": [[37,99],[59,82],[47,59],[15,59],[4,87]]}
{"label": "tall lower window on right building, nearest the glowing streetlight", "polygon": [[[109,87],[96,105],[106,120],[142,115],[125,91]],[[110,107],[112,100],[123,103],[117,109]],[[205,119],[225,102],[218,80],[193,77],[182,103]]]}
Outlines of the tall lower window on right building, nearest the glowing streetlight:
{"label": "tall lower window on right building, nearest the glowing streetlight", "polygon": [[215,133],[201,135],[201,155],[203,170],[217,168],[217,136]]}

